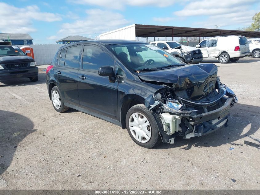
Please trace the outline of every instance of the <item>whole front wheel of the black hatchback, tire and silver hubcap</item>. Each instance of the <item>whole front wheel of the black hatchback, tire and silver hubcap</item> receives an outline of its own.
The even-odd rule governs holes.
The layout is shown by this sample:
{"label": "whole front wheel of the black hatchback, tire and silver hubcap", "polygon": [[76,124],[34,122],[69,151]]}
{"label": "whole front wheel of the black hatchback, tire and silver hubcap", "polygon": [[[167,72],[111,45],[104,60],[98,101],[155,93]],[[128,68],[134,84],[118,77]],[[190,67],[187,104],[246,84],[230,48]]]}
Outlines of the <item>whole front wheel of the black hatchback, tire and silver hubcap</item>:
{"label": "whole front wheel of the black hatchback, tire and silver hubcap", "polygon": [[128,110],[126,128],[132,140],[144,148],[153,148],[162,141],[152,112],[143,104]]}

